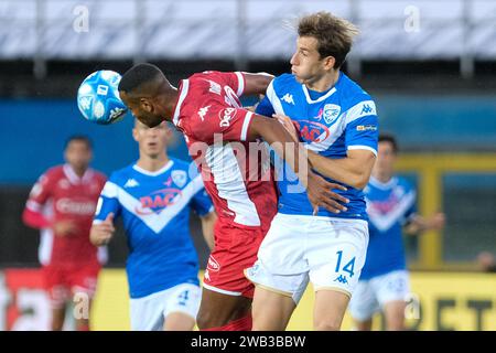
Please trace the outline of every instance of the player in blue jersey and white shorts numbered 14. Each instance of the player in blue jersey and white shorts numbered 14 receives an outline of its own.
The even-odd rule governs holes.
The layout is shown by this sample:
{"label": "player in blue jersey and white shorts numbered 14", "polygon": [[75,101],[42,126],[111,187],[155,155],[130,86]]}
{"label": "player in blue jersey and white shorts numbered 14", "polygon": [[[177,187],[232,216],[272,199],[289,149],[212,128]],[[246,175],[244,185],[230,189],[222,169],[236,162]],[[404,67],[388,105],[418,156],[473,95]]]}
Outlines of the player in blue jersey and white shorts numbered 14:
{"label": "player in blue jersey and white shorts numbered 14", "polygon": [[313,210],[290,168],[278,172],[279,212],[246,270],[257,285],[254,330],[283,330],[309,280],[314,328],[338,330],[368,244],[363,189],[377,154],[378,118],[370,96],[339,71],[357,30],[319,12],[300,20],[298,34],[292,74],[272,81],[257,113],[291,118],[285,126],[304,143],[312,168],[345,186],[335,191],[348,202],[337,213]]}

